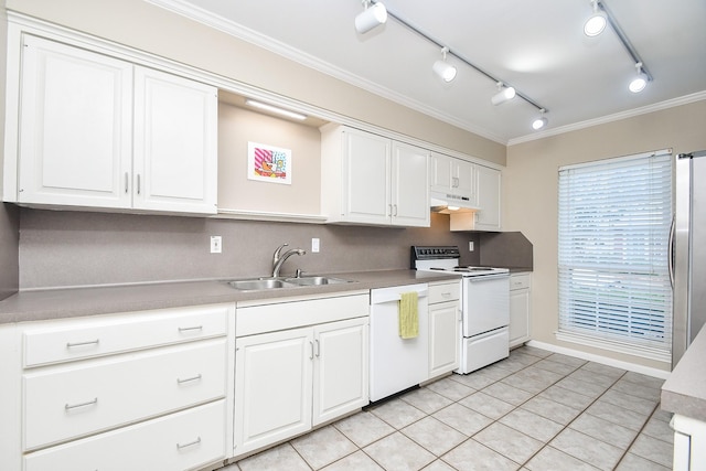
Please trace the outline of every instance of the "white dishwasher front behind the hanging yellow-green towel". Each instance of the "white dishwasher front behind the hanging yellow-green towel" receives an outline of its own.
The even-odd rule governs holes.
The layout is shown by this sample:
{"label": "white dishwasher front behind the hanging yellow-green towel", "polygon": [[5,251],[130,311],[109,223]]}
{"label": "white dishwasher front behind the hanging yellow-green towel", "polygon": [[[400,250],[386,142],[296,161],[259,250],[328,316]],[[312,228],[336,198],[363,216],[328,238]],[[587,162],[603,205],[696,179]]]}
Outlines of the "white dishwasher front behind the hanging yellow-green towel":
{"label": "white dishwasher front behind the hanging yellow-green towel", "polygon": [[[399,336],[399,300],[417,292],[419,334]],[[426,283],[371,290],[371,402],[405,390],[428,379],[429,301]]]}

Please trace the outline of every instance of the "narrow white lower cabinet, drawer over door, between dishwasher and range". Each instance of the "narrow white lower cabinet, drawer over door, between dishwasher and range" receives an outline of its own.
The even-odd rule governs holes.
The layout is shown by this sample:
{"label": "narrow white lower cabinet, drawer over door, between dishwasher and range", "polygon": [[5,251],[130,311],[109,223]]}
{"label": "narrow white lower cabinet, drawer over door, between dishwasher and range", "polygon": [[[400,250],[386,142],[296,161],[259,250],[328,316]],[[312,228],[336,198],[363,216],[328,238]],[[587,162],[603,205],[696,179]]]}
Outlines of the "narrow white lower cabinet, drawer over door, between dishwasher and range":
{"label": "narrow white lower cabinet, drawer over door, between dishwasher and range", "polygon": [[429,378],[459,367],[460,283],[429,285]]}

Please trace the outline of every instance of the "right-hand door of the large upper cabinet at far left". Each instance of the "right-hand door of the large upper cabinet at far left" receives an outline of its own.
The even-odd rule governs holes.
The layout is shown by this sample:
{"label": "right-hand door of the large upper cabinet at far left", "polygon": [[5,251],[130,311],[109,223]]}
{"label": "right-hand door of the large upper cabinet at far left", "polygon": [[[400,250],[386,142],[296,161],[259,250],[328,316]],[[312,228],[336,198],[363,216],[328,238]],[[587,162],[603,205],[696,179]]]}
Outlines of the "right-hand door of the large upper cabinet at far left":
{"label": "right-hand door of the large upper cabinet at far left", "polygon": [[135,207],[216,213],[217,92],[149,68],[135,74]]}

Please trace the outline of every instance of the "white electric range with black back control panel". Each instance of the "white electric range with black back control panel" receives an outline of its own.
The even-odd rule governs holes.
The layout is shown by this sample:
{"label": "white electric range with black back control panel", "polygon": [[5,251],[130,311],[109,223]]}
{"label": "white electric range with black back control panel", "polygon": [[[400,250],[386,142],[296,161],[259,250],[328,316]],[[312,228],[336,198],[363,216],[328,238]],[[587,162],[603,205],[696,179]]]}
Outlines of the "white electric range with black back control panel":
{"label": "white electric range with black back control panel", "polygon": [[467,374],[510,355],[510,270],[459,266],[453,246],[413,246],[411,267],[461,277],[461,358],[456,373]]}

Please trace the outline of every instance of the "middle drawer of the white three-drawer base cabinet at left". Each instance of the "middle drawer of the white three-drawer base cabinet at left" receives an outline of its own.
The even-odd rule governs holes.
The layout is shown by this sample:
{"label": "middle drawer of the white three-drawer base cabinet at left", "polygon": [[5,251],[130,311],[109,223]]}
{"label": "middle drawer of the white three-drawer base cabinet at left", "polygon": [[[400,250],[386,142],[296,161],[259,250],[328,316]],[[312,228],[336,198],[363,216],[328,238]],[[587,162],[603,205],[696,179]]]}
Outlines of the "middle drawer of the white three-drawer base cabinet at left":
{"label": "middle drawer of the white three-drawer base cabinet at left", "polygon": [[225,378],[225,339],[25,373],[24,449],[224,397]]}

